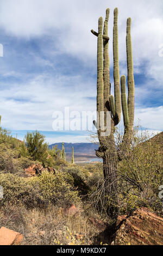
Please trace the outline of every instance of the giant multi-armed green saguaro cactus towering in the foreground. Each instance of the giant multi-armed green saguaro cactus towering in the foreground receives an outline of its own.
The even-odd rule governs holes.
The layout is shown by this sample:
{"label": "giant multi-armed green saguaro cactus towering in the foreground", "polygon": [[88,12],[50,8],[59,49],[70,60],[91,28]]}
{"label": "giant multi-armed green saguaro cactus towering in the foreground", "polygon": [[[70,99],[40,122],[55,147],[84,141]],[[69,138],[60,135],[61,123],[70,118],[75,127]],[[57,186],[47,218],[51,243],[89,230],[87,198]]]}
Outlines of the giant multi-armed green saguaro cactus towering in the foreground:
{"label": "giant multi-armed green saguaro cactus towering in the foreground", "polygon": [[[118,59],[118,9],[114,10],[113,28],[113,56],[114,56],[114,96],[110,95],[110,71],[109,71],[109,37],[108,20],[109,8],[106,9],[106,17],[103,28],[103,18],[98,20],[98,33],[91,31],[97,36],[97,122],[93,121],[97,130],[100,147],[96,151],[98,157],[103,158],[103,172],[105,188],[109,194],[117,192],[117,163],[122,159],[122,155],[130,146],[134,125],[134,74],[133,74],[133,54],[131,45],[131,19],[127,19],[127,68],[128,68],[128,101],[126,95],[126,77],[121,77],[120,92],[120,70]],[[122,105],[122,109],[121,109]],[[108,115],[108,112],[111,115]],[[115,126],[120,123],[121,112],[123,113],[124,136],[119,149],[116,148],[114,132]],[[104,113],[104,124],[101,122]],[[110,117],[110,134],[103,136],[103,132],[109,130],[107,117]],[[122,154],[123,153],[123,154]]]}

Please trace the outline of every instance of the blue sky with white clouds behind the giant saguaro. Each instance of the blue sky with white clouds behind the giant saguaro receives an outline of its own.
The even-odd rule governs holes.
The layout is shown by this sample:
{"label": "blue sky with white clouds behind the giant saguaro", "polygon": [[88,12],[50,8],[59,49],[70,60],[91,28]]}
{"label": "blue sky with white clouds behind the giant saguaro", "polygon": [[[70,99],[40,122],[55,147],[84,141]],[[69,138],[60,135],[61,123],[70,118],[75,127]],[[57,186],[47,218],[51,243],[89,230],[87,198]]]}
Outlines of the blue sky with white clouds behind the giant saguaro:
{"label": "blue sky with white clouds behind the giant saguaro", "polygon": [[[1,0],[0,100],[2,126],[24,136],[40,130],[52,142],[85,142],[86,132],[54,132],[55,111],[96,111],[98,17],[119,9],[120,73],[127,75],[126,20],[132,19],[135,125],[163,130],[162,0]],[[20,130],[20,131],[18,131]]]}

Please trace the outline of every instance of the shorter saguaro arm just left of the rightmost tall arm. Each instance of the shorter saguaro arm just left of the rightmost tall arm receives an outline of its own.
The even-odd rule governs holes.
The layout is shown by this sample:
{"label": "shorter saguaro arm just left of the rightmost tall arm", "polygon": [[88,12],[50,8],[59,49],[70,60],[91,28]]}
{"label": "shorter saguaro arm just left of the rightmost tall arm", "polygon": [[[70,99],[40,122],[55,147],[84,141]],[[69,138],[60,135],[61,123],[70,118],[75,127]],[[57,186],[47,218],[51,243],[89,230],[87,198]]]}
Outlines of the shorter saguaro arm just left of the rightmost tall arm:
{"label": "shorter saguaro arm just left of the rightmost tall arm", "polygon": [[128,129],[129,117],[128,117],[127,96],[126,96],[126,76],[121,76],[121,102],[122,102],[124,129]]}

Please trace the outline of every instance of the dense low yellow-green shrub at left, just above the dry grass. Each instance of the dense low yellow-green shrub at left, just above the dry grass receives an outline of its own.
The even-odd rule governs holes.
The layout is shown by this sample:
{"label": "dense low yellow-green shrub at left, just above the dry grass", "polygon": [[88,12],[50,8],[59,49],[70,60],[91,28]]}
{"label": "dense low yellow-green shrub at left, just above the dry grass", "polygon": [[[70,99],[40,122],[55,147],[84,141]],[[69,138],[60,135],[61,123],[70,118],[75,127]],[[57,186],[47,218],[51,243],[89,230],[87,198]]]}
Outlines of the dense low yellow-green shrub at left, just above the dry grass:
{"label": "dense low yellow-green shrub at left, just above the dry grass", "polygon": [[0,186],[4,193],[0,205],[21,202],[28,207],[44,207],[48,204],[64,205],[80,201],[70,174],[43,172],[30,179],[16,174],[0,174]]}

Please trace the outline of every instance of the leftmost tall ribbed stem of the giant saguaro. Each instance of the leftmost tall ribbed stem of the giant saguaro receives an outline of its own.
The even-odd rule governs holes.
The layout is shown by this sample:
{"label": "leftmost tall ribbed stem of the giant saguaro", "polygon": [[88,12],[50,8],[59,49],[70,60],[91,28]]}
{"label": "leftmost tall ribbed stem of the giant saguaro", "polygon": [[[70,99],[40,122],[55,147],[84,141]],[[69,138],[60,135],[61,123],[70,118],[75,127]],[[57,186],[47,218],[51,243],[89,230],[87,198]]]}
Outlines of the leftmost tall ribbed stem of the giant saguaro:
{"label": "leftmost tall ribbed stem of the giant saguaro", "polygon": [[99,115],[104,111],[104,81],[103,81],[103,18],[98,20],[98,40],[97,40],[97,112]]}

